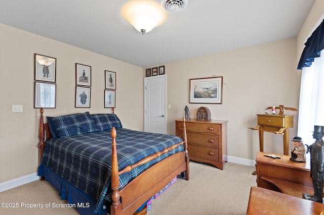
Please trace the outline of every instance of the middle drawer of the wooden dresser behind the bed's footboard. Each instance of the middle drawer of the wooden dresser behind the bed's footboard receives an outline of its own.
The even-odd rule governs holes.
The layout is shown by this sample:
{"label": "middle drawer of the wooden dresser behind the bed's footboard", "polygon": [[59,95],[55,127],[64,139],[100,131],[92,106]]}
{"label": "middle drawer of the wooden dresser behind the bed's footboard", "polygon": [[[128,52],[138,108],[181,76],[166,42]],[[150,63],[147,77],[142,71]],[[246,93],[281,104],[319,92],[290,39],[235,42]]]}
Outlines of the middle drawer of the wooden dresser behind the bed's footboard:
{"label": "middle drawer of the wooden dresser behind the bed's footboard", "polygon": [[187,133],[187,140],[188,140],[188,143],[218,148],[218,136],[217,135]]}

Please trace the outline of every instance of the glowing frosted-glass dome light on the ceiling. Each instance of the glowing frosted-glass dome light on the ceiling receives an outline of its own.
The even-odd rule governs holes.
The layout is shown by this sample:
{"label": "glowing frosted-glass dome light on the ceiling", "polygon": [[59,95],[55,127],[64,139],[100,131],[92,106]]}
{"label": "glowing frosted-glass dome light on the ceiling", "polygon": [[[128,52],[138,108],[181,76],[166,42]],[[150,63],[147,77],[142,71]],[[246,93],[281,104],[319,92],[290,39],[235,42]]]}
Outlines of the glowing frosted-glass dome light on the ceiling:
{"label": "glowing frosted-glass dome light on the ceiling", "polygon": [[153,0],[133,0],[121,8],[121,15],[142,34],[167,19],[167,12]]}

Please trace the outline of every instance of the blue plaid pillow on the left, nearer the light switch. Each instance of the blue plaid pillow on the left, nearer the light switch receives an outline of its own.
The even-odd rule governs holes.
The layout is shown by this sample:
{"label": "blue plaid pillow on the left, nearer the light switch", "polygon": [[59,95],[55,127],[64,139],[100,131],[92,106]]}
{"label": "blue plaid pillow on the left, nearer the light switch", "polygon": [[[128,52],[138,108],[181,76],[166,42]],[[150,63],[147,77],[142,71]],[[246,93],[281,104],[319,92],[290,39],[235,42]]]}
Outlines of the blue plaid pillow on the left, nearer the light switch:
{"label": "blue plaid pillow on the left, nearer the light switch", "polygon": [[52,118],[57,137],[70,137],[99,131],[89,112]]}

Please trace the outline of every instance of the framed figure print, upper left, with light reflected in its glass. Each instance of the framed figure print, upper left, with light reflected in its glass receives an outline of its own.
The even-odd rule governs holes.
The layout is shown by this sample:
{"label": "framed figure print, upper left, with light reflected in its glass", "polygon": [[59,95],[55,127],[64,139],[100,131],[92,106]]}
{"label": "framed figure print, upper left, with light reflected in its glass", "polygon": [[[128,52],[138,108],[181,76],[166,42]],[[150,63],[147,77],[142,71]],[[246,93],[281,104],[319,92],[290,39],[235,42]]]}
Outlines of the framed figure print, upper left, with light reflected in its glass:
{"label": "framed figure print, upper left, with light reflected in its glass", "polygon": [[56,58],[34,54],[35,81],[56,82]]}

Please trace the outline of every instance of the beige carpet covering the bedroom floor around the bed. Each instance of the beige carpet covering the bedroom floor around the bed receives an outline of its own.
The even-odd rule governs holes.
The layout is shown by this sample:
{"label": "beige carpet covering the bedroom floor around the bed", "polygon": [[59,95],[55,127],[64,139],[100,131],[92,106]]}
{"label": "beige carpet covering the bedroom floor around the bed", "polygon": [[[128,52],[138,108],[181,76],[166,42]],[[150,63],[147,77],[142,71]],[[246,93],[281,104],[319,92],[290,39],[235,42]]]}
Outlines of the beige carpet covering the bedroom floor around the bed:
{"label": "beige carpet covering the bedroom floor around the bed", "polygon": [[[255,168],[225,163],[224,170],[190,162],[190,180],[177,181],[153,199],[149,215],[163,214],[246,214],[251,186],[256,186]],[[0,214],[79,214],[74,208],[57,208],[66,203],[46,181],[31,182],[0,193],[0,202],[18,203],[16,208],[0,207]],[[43,208],[28,208],[30,203]],[[23,205],[25,204],[25,205]],[[50,204],[50,207],[45,207]]]}

